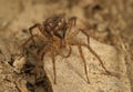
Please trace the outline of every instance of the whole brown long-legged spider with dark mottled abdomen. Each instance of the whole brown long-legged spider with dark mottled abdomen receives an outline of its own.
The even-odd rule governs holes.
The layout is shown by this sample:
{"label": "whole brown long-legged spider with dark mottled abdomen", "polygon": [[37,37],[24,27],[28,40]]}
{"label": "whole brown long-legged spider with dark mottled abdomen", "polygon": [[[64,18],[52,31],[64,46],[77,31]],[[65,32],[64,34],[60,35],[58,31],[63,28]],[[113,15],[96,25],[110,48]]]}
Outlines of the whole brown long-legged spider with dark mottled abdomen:
{"label": "whole brown long-legged spider with dark mottled abdomen", "polygon": [[[34,25],[29,28],[31,38],[29,38],[28,41],[23,43],[23,45],[25,45],[29,41],[33,41],[35,45],[35,40],[34,40],[35,38],[41,39],[42,42],[47,43],[41,50],[39,50],[38,58],[39,58],[39,61],[42,61],[43,55],[50,52],[50,55],[52,58],[52,63],[53,63],[54,84],[57,83],[55,59],[54,58],[55,55],[61,55],[62,58],[69,58],[72,52],[72,45],[76,45],[79,49],[80,57],[84,64],[84,72],[85,72],[85,78],[86,78],[88,83],[90,83],[90,80],[88,76],[86,61],[83,55],[82,47],[88,48],[89,51],[98,58],[99,62],[101,63],[105,72],[108,74],[110,73],[103,65],[103,62],[100,59],[100,57],[90,47],[90,42],[89,42],[90,37],[86,33],[86,31],[82,29],[78,29],[74,32],[70,33],[71,28],[75,27],[75,23],[76,23],[76,17],[72,17],[69,20],[65,20],[64,17],[62,16],[54,16],[54,17],[48,18],[43,22],[43,24],[35,23]],[[39,32],[41,33],[41,35],[33,34],[34,28],[39,29]],[[88,44],[75,41],[74,38],[72,38],[72,37],[75,37],[79,32],[82,32],[88,38]],[[63,54],[62,50],[66,49],[66,47],[68,47],[68,53]]]}

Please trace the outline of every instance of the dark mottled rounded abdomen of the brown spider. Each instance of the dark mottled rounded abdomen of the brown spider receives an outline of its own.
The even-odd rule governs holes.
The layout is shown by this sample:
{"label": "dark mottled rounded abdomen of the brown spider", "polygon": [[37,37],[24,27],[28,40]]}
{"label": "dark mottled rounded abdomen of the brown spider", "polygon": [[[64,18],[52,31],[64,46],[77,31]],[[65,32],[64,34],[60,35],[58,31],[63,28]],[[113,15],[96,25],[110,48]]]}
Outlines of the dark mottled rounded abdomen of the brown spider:
{"label": "dark mottled rounded abdomen of the brown spider", "polygon": [[45,32],[49,35],[57,35],[60,39],[64,39],[65,31],[68,29],[66,21],[63,17],[55,16],[53,18],[49,18],[43,22],[43,27]]}

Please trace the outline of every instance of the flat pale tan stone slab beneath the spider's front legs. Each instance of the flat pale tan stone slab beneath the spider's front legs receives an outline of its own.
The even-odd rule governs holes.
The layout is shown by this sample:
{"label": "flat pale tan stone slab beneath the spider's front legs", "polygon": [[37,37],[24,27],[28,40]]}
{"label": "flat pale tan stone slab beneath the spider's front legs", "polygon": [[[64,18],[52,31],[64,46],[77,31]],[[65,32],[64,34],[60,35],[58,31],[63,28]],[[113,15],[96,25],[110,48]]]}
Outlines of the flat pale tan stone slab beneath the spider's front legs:
{"label": "flat pale tan stone slab beneath the spider's front legs", "polygon": [[100,43],[91,39],[91,47],[103,60],[105,68],[113,72],[112,75],[105,75],[98,59],[83,48],[88,62],[88,72],[90,84],[86,83],[83,62],[78,53],[78,48],[73,47],[70,58],[57,58],[57,84],[53,84],[52,63],[50,58],[45,60],[45,69],[52,82],[54,92],[131,92],[130,81],[126,75],[125,61],[123,54],[115,48]]}

